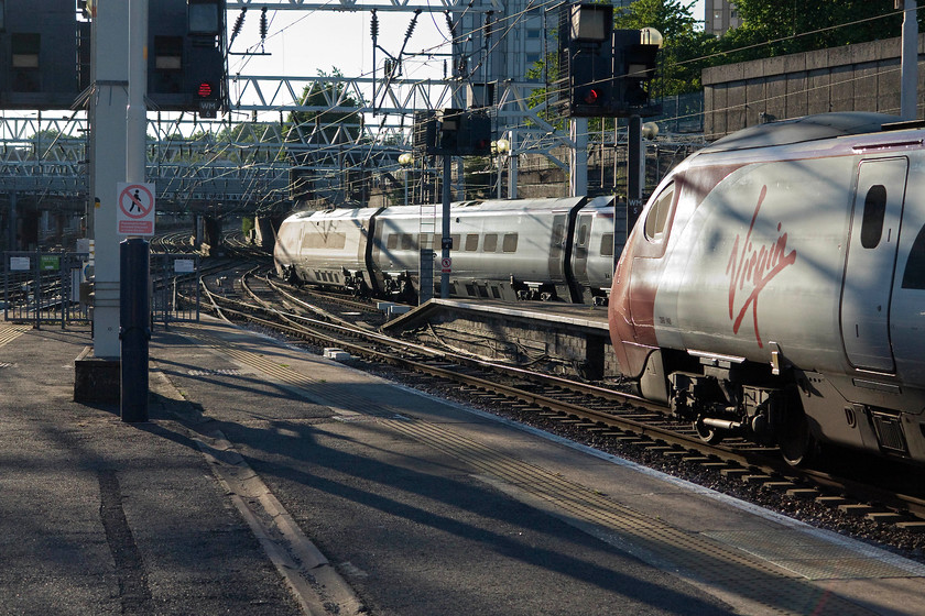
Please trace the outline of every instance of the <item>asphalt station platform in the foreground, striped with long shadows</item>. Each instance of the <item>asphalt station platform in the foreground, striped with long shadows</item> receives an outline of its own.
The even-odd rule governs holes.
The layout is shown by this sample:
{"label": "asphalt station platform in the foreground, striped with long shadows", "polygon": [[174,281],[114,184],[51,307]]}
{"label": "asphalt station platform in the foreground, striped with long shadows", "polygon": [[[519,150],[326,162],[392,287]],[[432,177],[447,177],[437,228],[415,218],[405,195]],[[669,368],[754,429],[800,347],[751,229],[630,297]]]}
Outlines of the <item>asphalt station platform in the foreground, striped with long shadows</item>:
{"label": "asphalt station platform in the foreground, striped with long shadows", "polygon": [[0,323],[4,614],[918,614],[925,565],[206,320],[150,421]]}

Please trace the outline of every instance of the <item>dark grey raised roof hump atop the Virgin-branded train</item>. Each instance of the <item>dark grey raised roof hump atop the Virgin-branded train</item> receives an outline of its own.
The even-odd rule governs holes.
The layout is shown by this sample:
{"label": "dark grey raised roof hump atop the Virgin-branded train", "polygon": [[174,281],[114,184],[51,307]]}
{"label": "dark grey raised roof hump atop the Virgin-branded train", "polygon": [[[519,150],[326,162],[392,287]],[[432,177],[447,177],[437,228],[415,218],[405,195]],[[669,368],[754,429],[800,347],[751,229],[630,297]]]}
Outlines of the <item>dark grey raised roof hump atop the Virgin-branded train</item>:
{"label": "dark grey raised roof hump atop the Virgin-branded train", "polygon": [[882,131],[884,124],[894,124],[899,121],[900,118],[896,116],[886,113],[861,111],[817,113],[742,129],[717,140],[700,150],[700,153],[771,147],[837,136],[875,133]]}

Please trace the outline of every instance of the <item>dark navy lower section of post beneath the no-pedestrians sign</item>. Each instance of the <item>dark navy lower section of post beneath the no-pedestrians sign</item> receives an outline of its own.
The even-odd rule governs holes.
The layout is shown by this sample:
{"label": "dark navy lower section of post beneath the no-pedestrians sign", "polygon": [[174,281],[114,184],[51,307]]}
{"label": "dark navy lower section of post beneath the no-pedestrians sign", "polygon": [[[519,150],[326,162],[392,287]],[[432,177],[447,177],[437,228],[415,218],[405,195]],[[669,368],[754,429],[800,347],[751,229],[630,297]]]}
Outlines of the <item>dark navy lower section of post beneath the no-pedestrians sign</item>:
{"label": "dark navy lower section of post beneath the no-pedestrians sign", "polygon": [[119,260],[122,421],[148,421],[148,341],[151,340],[148,242],[141,238],[123,240],[119,244]]}

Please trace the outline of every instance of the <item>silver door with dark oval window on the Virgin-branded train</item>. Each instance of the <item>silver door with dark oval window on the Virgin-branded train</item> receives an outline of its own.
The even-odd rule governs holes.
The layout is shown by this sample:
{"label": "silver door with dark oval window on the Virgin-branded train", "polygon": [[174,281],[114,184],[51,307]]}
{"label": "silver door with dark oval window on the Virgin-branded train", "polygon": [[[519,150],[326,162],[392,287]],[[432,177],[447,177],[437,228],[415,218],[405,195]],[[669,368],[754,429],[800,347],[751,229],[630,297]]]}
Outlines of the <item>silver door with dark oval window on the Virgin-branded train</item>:
{"label": "silver door with dark oval window on the Virgin-branded train", "polygon": [[841,339],[858,369],[892,372],[890,296],[905,200],[905,157],[862,161],[841,287]]}

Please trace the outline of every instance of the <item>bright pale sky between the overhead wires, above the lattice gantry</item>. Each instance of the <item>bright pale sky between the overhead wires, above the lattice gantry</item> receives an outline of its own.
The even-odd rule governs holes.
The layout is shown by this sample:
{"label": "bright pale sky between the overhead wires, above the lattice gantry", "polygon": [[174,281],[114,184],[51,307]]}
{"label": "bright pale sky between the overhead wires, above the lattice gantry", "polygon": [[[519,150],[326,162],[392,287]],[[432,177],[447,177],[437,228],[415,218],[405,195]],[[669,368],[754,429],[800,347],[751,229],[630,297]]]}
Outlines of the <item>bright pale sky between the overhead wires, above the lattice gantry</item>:
{"label": "bright pale sky between the overhead wires, above the lattice gantry", "polygon": [[[337,4],[336,0],[331,2]],[[413,13],[379,11],[379,46],[377,66],[385,54],[398,56]],[[268,36],[260,38],[260,12],[248,11],[240,34],[229,47],[229,76],[317,77],[319,70],[335,68],[346,77],[371,77],[373,44],[369,11],[268,11]],[[696,0],[695,19],[704,19],[704,0]],[[229,28],[237,13],[228,13]],[[421,13],[406,53],[449,53],[446,19],[440,12]],[[269,55],[233,55],[242,52]],[[443,77],[442,57],[412,59],[405,64],[405,78]],[[232,88],[233,96],[233,88]]]}

